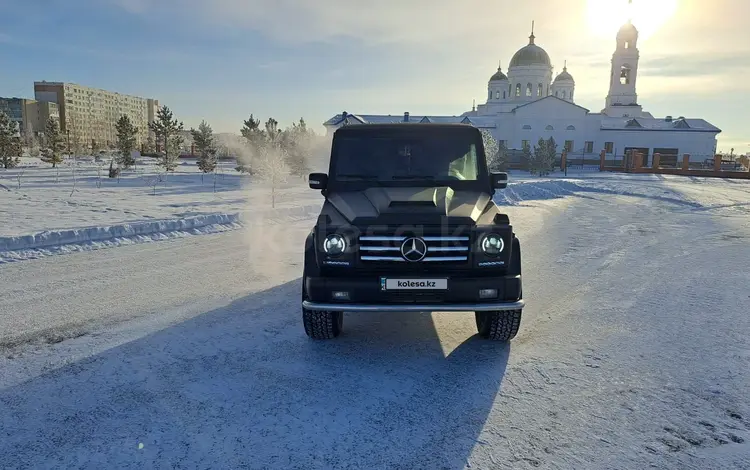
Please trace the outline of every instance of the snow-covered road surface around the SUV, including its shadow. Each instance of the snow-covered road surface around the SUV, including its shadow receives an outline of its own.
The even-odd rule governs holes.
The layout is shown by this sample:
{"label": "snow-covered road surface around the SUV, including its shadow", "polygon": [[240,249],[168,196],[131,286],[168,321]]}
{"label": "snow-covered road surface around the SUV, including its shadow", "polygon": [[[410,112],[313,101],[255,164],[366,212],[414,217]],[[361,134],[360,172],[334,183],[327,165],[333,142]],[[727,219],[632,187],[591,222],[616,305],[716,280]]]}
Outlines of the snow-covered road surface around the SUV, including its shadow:
{"label": "snow-covered road surface around the SUV, including its shadow", "polygon": [[5,265],[0,467],[750,468],[749,217],[648,184],[509,208],[509,346],[463,314],[307,340],[311,221]]}

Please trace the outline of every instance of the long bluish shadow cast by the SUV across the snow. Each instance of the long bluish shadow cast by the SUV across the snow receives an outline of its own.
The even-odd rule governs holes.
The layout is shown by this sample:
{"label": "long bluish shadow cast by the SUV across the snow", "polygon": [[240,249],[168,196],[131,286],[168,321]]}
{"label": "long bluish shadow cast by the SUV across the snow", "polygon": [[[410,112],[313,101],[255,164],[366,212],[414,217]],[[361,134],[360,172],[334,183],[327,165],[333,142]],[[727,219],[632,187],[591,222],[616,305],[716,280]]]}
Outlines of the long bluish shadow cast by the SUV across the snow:
{"label": "long bluish shadow cast by the SUV across the snow", "polygon": [[437,317],[451,328],[347,315],[337,340],[312,341],[299,289],[251,294],[0,391],[0,466],[463,468],[510,346],[472,336],[468,314]]}

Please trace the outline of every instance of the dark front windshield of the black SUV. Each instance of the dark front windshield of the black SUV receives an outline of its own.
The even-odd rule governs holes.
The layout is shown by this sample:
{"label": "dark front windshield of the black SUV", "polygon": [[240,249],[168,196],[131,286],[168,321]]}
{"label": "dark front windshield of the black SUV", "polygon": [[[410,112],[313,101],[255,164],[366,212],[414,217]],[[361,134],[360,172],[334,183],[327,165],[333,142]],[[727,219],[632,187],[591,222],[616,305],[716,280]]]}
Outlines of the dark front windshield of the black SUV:
{"label": "dark front windshield of the black SUV", "polygon": [[467,132],[362,133],[337,138],[337,181],[477,181],[477,146]]}

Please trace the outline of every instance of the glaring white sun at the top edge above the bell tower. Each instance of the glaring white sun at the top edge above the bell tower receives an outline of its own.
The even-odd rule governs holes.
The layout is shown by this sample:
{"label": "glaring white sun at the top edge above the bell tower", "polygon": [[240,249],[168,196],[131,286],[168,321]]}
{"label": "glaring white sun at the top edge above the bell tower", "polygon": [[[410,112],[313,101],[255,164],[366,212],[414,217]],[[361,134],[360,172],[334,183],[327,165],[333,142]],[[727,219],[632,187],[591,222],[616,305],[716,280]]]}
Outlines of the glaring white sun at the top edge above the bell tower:
{"label": "glaring white sun at the top edge above the bell tower", "polygon": [[628,19],[638,28],[641,39],[659,31],[677,11],[678,0],[587,0],[589,28],[596,36],[611,38]]}

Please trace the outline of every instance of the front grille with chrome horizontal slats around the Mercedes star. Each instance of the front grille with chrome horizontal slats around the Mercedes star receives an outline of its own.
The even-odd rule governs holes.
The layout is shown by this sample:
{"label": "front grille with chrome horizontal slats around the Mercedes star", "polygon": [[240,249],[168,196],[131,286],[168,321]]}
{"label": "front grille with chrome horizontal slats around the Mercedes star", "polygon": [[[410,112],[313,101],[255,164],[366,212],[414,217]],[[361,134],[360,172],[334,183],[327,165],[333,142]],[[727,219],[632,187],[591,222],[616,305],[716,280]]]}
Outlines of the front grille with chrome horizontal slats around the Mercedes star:
{"label": "front grille with chrome horizontal slats around the Mercedes star", "polygon": [[[364,263],[411,263],[401,255],[406,236],[361,236],[359,259]],[[424,236],[427,252],[416,263],[461,263],[469,259],[468,236]]]}

